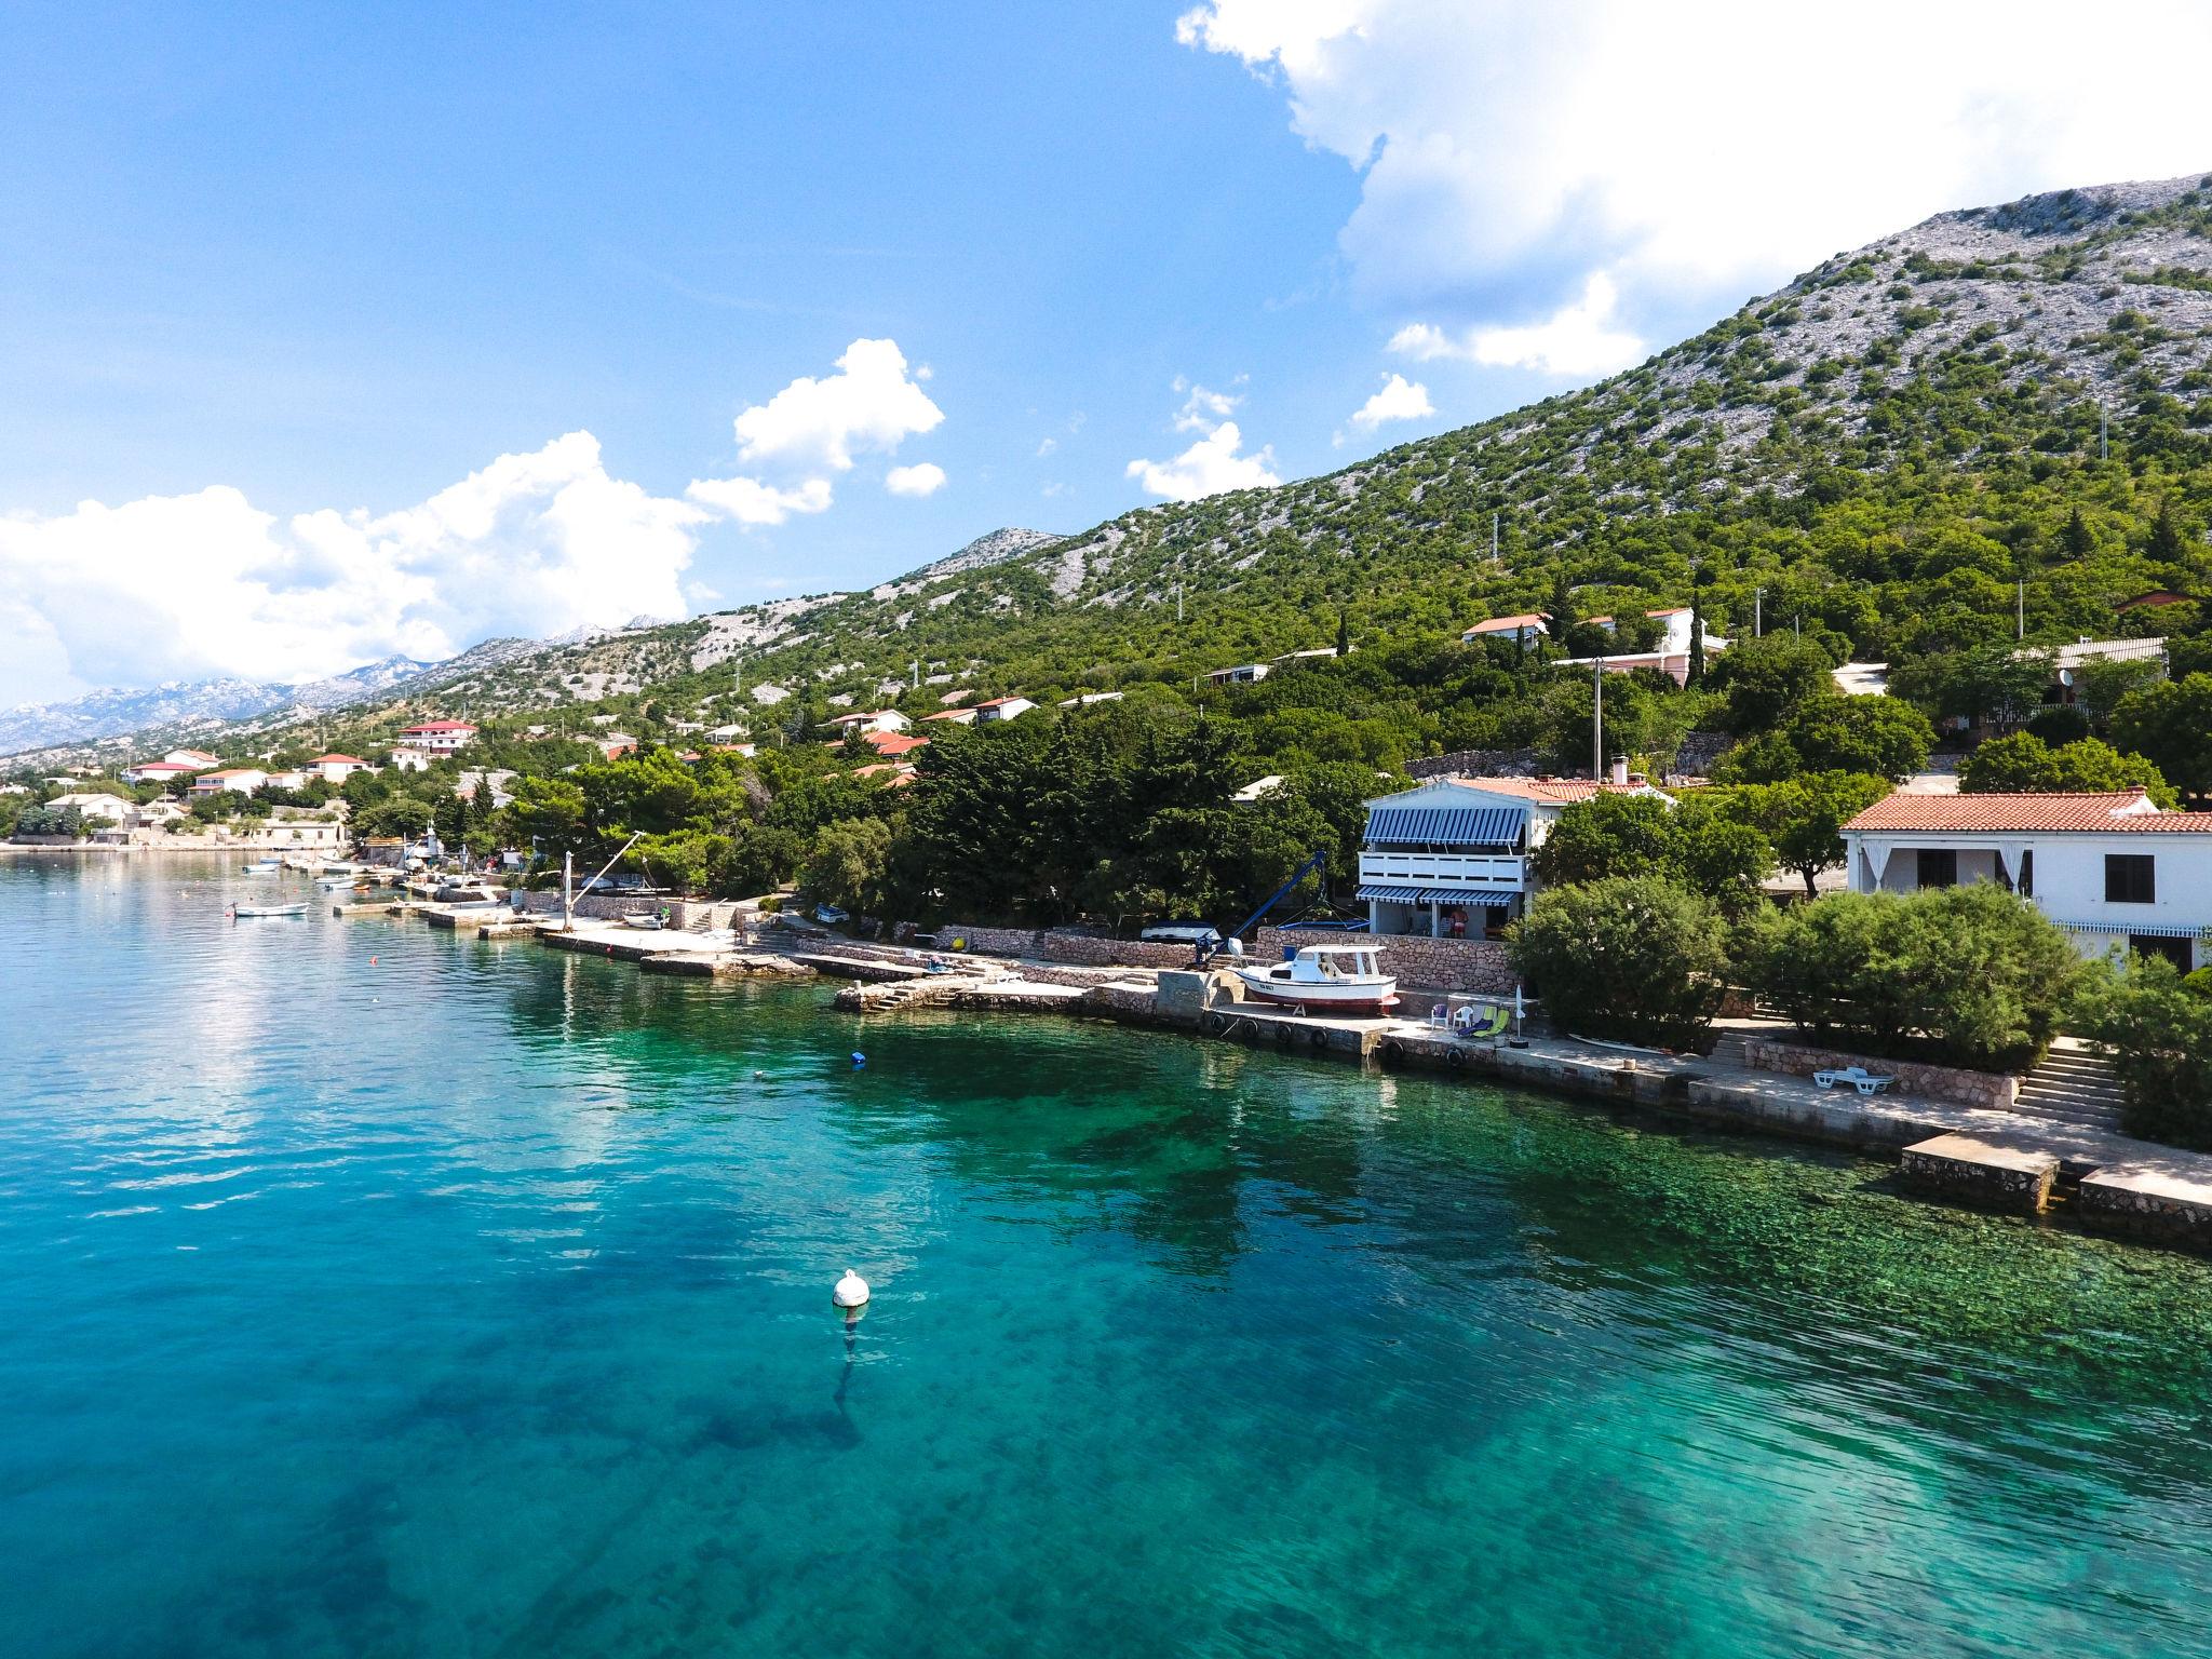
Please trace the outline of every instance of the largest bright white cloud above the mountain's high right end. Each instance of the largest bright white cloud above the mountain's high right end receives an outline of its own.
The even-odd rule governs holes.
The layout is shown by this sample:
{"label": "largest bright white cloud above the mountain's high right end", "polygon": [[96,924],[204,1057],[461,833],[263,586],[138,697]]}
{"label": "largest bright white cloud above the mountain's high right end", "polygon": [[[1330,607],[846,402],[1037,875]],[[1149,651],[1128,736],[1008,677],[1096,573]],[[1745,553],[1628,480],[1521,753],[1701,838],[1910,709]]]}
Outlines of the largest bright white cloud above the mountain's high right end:
{"label": "largest bright white cloud above the mountain's high right end", "polygon": [[[2135,0],[2095,29],[2057,0],[1991,15],[1208,0],[1177,38],[1279,82],[1292,128],[1358,170],[1340,248],[1363,299],[1504,336],[1453,356],[1566,374],[1621,361],[1577,327],[1710,316],[1944,208],[2205,168],[2212,7]],[[1593,274],[1626,323],[1571,316]],[[1511,327],[1528,316],[1551,323]]]}

